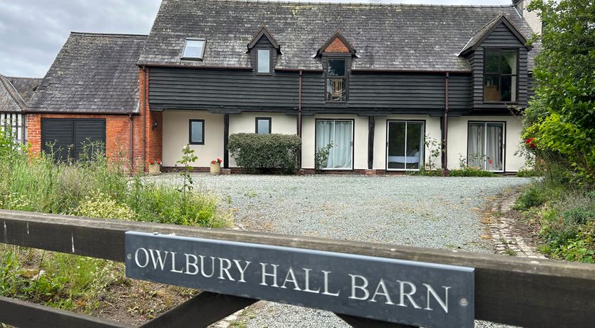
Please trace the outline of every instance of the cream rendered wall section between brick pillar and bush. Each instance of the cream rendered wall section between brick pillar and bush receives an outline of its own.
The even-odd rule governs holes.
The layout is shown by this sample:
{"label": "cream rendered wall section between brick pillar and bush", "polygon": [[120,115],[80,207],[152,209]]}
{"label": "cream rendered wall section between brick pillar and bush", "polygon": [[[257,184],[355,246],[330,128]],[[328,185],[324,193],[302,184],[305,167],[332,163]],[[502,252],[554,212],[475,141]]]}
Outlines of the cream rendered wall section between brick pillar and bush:
{"label": "cream rendered wall section between brick pillar and bush", "polygon": [[207,111],[163,111],[163,166],[176,166],[189,141],[189,120],[205,120],[205,144],[190,145],[198,160],[192,165],[208,167],[223,159],[223,115]]}

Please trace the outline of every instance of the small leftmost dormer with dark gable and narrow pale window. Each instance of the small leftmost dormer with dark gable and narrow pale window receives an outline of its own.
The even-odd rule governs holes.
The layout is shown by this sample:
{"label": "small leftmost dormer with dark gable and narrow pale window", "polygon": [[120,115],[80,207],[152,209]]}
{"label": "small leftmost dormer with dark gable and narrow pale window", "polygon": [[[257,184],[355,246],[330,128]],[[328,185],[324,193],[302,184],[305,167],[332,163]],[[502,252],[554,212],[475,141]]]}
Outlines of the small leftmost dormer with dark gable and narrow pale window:
{"label": "small leftmost dormer with dark gable and narrow pale window", "polygon": [[248,51],[255,74],[273,75],[281,47],[265,25],[260,26],[260,30],[248,43]]}

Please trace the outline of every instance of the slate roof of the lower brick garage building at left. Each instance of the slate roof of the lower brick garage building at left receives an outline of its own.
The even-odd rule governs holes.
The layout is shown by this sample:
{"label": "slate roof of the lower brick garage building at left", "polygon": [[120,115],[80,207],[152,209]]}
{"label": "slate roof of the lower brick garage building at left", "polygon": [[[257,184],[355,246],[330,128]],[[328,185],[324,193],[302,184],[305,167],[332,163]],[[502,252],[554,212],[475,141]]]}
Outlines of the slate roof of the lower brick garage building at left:
{"label": "slate roof of the lower brick garage building at left", "polygon": [[138,56],[146,36],[71,32],[29,103],[51,113],[138,112]]}

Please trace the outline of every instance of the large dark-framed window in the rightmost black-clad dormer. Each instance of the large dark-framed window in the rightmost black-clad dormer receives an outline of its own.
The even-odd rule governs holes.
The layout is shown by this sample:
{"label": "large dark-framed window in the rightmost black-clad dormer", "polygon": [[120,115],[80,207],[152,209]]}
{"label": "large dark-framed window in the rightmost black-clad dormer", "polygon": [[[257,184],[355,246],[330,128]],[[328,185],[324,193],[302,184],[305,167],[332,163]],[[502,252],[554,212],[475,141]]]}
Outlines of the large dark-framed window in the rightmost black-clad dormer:
{"label": "large dark-framed window in the rightmost black-clad dormer", "polygon": [[486,49],[484,57],[484,102],[517,101],[518,49]]}

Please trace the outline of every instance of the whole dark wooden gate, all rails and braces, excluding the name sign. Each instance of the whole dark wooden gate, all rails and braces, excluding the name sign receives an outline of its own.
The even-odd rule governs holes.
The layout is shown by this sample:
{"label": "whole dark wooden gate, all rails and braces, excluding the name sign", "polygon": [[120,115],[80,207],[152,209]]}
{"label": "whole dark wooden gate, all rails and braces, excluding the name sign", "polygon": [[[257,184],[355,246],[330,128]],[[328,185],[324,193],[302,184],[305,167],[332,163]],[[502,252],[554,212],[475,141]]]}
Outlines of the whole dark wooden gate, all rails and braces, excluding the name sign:
{"label": "whole dark wooden gate, all rails and braces, excluding the name sign", "polygon": [[[471,252],[325,240],[148,222],[0,210],[0,242],[125,262],[127,231],[349,252],[475,268],[475,318],[523,327],[588,327],[595,322],[595,265]],[[142,327],[205,327],[258,299],[200,292]],[[353,327],[410,327],[337,314]],[[0,322],[17,327],[130,327],[0,297]]]}

